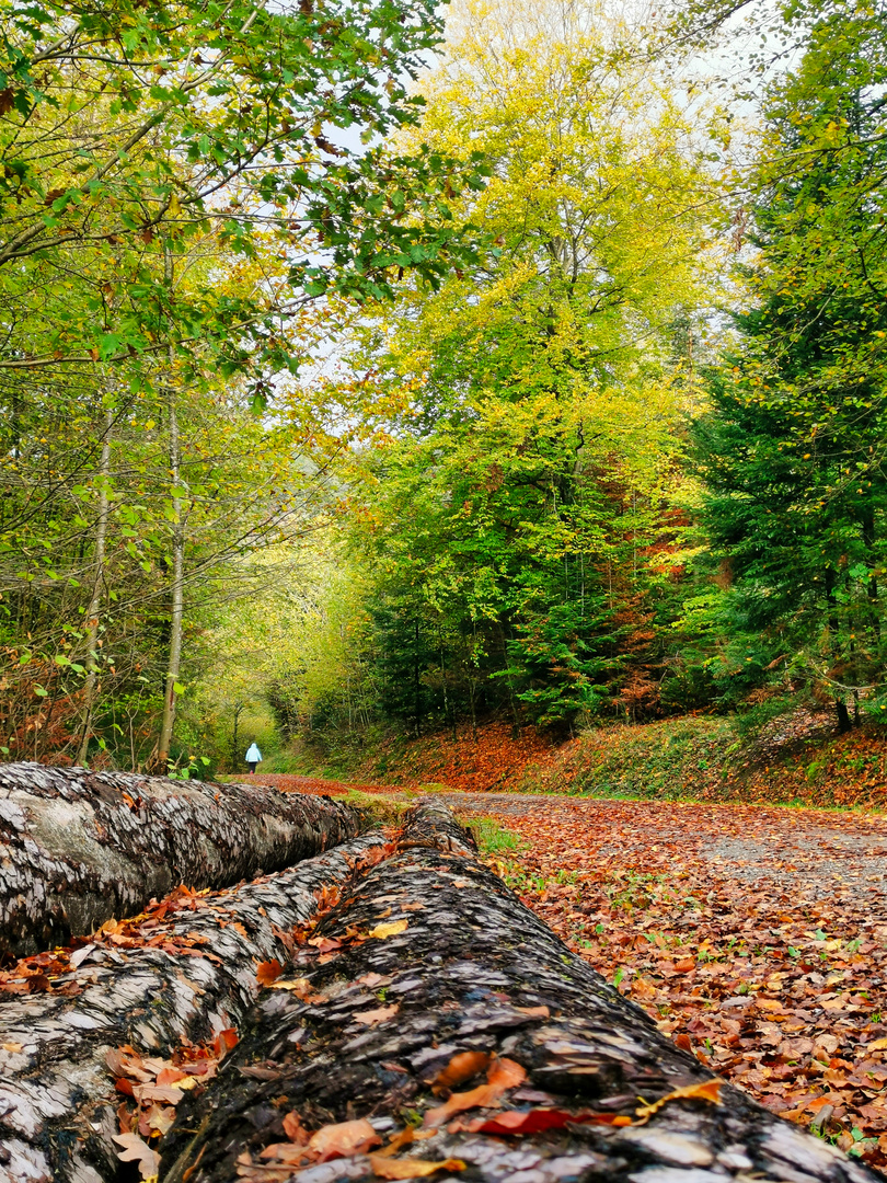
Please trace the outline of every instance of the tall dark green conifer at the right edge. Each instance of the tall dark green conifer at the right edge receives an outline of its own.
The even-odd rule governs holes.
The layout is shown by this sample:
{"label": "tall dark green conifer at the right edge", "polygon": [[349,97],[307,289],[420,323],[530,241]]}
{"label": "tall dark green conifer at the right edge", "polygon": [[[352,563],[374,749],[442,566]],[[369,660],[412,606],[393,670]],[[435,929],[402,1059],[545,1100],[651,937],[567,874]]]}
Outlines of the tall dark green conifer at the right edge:
{"label": "tall dark green conifer at the right edge", "polygon": [[698,431],[746,627],[834,698],[842,730],[850,707],[887,710],[886,79],[883,18],[827,8],[770,84],[751,306]]}

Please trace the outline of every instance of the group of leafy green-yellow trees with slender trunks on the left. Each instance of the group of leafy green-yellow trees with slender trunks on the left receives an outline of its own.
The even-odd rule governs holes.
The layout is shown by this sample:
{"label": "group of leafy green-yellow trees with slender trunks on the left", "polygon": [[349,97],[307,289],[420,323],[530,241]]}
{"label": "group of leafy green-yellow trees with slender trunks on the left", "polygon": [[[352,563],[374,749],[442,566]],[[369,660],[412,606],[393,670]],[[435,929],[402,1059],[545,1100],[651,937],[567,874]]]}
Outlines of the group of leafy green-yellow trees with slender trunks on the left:
{"label": "group of leafy green-yellow trees with slender trunks on the left", "polygon": [[483,182],[383,142],[419,116],[426,0],[2,21],[0,749],[163,769],[207,605],[324,497],[292,384],[321,297],[439,282]]}

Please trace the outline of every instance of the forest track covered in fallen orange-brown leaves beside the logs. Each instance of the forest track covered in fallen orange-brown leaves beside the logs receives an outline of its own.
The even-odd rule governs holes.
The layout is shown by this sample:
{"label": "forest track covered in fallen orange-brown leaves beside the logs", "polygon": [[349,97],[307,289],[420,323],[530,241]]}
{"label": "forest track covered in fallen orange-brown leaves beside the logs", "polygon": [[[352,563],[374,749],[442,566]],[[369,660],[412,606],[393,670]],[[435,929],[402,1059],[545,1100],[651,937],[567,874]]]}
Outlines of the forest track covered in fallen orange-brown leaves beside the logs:
{"label": "forest track covered in fallen orange-brown leaves beside the logs", "polygon": [[388,817],[452,804],[524,903],[679,1046],[887,1170],[887,817],[361,788]]}

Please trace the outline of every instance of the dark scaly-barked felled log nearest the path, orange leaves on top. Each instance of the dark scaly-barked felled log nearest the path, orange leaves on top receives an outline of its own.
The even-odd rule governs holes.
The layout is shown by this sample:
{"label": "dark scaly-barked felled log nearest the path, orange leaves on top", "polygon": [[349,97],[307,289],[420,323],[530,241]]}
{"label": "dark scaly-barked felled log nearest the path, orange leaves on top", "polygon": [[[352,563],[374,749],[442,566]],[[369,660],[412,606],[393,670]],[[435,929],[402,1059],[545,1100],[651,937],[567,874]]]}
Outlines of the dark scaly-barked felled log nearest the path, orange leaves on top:
{"label": "dark scaly-barked felled log nearest the path, orange leaves on top", "polygon": [[345,888],[179,1106],[163,1183],[880,1178],[660,1035],[467,842],[420,808]]}

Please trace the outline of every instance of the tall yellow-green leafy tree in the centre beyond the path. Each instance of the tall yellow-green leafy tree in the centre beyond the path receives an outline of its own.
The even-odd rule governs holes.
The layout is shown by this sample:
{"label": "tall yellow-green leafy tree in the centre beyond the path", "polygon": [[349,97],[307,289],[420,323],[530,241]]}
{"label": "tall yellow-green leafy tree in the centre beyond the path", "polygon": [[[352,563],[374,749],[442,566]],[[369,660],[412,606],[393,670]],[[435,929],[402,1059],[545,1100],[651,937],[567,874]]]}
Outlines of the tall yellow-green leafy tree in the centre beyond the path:
{"label": "tall yellow-green leafy tree in the centre beyond the path", "polygon": [[[416,284],[364,318],[356,377],[330,392],[377,433],[352,503],[387,614],[380,652],[406,661],[413,636],[410,697],[438,719],[440,635],[444,665],[480,671],[487,705],[516,722],[634,711],[620,645],[652,586],[691,389],[674,343],[706,285],[713,186],[619,22],[465,4],[454,30],[423,84],[422,134],[488,156],[490,183],[455,208],[491,250],[436,295]],[[388,680],[406,716],[406,672]]]}

